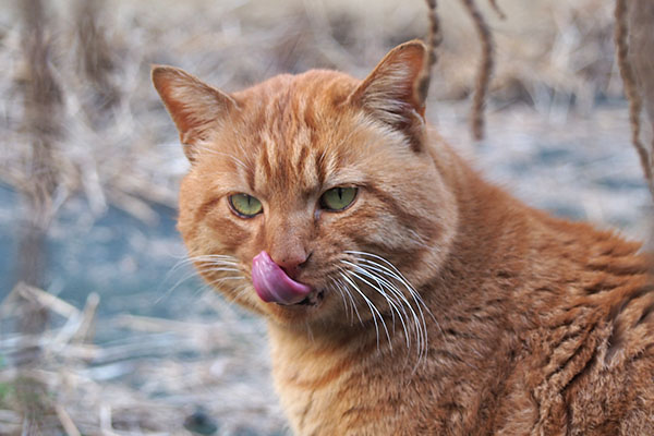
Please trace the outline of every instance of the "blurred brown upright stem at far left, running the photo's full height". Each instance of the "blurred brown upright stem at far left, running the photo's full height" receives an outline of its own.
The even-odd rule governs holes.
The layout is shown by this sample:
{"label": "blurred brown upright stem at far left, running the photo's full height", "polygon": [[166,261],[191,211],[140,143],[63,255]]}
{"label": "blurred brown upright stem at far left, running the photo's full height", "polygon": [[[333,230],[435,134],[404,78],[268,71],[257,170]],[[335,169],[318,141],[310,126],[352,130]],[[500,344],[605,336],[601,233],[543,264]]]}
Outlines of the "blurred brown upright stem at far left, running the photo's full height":
{"label": "blurred brown upright stem at far left, running the photo's full height", "polygon": [[[47,264],[46,242],[55,214],[52,197],[59,173],[53,141],[60,133],[61,90],[50,70],[50,46],[41,0],[21,0],[22,41],[25,56],[23,131],[29,147],[26,154],[23,183],[19,186],[23,219],[19,233],[16,279],[43,288]],[[20,284],[19,284],[20,286]],[[41,356],[41,350],[31,340],[46,329],[48,313],[37,301],[20,300],[17,329],[26,339],[21,350],[20,373],[15,380],[17,399],[23,414],[24,433],[43,434],[45,416],[51,404],[47,388],[31,375]]]}

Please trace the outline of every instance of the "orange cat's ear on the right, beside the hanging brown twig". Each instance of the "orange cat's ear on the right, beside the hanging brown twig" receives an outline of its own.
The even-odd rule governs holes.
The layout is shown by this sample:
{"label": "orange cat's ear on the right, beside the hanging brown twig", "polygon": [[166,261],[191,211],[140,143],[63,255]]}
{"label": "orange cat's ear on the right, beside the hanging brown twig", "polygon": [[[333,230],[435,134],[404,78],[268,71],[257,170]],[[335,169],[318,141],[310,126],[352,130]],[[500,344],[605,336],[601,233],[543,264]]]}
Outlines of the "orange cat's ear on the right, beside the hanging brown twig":
{"label": "orange cat's ear on the right, beside the hanging brown twig", "polygon": [[351,104],[405,133],[415,148],[420,148],[424,132],[425,93],[419,90],[419,82],[426,52],[420,40],[393,48],[349,98]]}

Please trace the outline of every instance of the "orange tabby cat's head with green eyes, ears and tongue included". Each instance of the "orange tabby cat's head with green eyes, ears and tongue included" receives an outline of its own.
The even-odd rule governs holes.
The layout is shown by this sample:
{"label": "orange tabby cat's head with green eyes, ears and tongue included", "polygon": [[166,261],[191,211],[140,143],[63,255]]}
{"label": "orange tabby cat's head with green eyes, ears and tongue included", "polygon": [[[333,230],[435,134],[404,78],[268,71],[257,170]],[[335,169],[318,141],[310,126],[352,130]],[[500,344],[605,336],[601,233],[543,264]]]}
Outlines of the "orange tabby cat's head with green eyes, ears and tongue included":
{"label": "orange tabby cat's head with green eyes, ears and tongue included", "polygon": [[424,62],[410,41],[364,81],[310,71],[232,94],[153,70],[192,164],[179,230],[207,282],[281,324],[365,322],[415,296],[456,227]]}

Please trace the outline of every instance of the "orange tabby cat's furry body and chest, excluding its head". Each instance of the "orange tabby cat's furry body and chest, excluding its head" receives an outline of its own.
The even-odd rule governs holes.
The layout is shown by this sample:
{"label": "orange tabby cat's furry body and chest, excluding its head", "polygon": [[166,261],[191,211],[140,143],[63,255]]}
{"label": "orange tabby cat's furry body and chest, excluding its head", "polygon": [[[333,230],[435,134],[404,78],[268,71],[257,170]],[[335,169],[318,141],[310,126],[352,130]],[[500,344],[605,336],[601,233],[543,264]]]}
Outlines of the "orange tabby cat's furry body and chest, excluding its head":
{"label": "orange tabby cat's furry body and chest, excluding its head", "polygon": [[296,434],[653,434],[654,288],[639,245],[530,209],[448,160],[460,228],[421,290],[438,322],[426,362],[415,367],[401,329],[391,352],[372,326],[271,324]]}

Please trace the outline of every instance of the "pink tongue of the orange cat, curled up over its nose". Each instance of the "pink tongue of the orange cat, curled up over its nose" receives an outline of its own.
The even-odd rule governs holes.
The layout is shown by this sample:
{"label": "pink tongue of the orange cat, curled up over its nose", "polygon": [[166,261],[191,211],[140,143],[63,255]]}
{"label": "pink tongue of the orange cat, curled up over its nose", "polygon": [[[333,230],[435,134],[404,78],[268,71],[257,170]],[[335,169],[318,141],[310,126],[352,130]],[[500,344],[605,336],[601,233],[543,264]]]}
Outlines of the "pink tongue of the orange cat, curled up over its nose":
{"label": "pink tongue of the orange cat, curled up over its nose", "polygon": [[252,283],[266,303],[295,304],[311,292],[310,287],[287,276],[265,251],[252,259]]}

